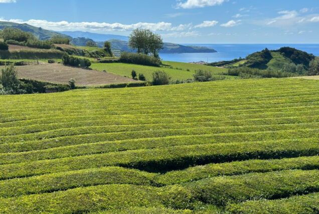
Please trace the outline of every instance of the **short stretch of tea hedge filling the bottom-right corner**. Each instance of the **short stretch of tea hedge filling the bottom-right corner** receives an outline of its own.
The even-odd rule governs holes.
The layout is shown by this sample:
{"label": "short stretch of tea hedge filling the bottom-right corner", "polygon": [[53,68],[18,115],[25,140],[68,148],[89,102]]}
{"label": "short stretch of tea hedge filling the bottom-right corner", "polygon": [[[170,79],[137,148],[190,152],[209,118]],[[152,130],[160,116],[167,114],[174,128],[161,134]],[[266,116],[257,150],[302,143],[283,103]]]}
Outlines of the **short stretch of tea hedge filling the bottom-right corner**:
{"label": "short stretch of tea hedge filling the bottom-right corner", "polygon": [[278,214],[317,214],[319,193],[292,196],[277,200],[252,200],[227,206],[230,213],[278,213]]}

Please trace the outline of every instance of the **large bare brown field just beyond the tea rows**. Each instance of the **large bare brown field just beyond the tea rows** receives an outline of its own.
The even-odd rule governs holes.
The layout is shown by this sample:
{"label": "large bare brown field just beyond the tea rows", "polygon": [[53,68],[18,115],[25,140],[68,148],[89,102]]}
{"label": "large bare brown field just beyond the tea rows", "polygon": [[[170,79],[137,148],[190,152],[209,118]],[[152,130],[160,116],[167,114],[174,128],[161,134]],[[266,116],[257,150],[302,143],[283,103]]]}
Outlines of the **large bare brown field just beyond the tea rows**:
{"label": "large bare brown field just beyond the tea rows", "polygon": [[[2,66],[0,66],[0,69]],[[19,78],[34,79],[38,81],[68,84],[73,78],[77,85],[106,85],[112,83],[134,82],[135,80],[114,75],[61,64],[35,64],[17,66]]]}

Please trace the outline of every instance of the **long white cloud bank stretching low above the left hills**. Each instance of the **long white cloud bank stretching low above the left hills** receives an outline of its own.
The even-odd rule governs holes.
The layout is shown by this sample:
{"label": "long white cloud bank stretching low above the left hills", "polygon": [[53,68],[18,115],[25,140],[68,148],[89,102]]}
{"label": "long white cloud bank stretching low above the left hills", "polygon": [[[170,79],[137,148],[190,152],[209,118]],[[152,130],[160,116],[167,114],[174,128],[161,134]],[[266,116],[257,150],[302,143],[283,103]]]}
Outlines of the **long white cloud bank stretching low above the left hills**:
{"label": "long white cloud bank stretching low above the left hills", "polygon": [[125,25],[120,23],[98,23],[98,22],[49,22],[46,20],[4,20],[0,18],[0,21],[15,22],[15,23],[27,23],[35,27],[42,27],[44,29],[53,31],[131,31],[135,28],[146,28],[152,31],[183,31],[191,28],[192,24],[173,26],[172,23],[158,22],[158,23],[144,23],[139,22],[135,24]]}

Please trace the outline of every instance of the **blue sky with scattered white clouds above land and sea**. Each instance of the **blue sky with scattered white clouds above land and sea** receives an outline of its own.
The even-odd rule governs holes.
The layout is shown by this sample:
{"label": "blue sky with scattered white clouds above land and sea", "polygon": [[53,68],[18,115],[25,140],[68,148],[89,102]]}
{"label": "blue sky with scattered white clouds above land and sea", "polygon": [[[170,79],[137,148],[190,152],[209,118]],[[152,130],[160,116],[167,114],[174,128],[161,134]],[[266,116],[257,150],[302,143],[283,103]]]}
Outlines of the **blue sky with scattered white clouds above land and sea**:
{"label": "blue sky with scattered white clouds above land and sea", "polygon": [[0,0],[0,21],[124,36],[147,28],[180,44],[319,43],[319,0]]}

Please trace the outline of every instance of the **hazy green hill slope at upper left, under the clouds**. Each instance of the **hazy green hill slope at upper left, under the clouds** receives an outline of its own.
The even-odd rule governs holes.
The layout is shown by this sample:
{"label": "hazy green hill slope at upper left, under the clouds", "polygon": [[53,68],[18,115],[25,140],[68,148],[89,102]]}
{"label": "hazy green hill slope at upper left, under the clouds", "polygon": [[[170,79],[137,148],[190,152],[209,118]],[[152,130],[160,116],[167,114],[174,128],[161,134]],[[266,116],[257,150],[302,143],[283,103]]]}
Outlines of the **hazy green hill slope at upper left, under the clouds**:
{"label": "hazy green hill slope at upper left, under the clouds", "polygon": [[48,31],[43,28],[37,28],[28,24],[18,24],[18,23],[13,23],[13,22],[0,22],[0,30],[4,28],[18,28],[22,31],[25,32],[30,32],[32,33],[35,37],[37,37],[40,40],[47,40],[50,39],[51,37],[55,35],[60,35],[60,36],[66,36],[54,31]]}

